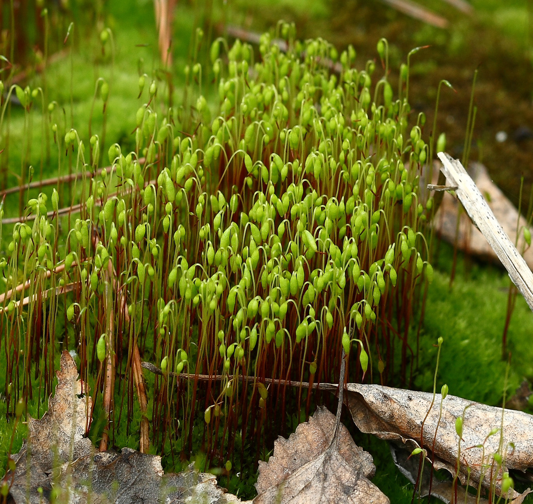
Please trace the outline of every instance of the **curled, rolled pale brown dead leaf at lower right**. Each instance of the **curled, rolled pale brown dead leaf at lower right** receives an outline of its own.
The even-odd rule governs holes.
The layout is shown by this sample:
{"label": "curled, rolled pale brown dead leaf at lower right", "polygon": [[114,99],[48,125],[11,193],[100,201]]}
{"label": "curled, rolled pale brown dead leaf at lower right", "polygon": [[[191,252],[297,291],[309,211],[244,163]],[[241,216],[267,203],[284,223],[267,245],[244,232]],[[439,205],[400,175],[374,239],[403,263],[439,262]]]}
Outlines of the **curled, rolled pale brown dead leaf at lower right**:
{"label": "curled, rolled pale brown dead leaf at lower right", "polygon": [[[533,416],[453,395],[442,401],[440,416],[441,395],[435,395],[430,410],[432,399],[431,393],[381,385],[348,384],[346,392],[348,407],[360,431],[404,443],[409,451],[422,447],[428,452],[427,460],[434,456],[435,469],[447,469],[452,475],[459,458],[458,477],[463,484],[470,473],[471,486],[481,482],[488,489],[492,482],[499,493],[505,470],[525,471],[533,467]],[[461,443],[456,432],[459,417],[463,418]],[[495,453],[502,456],[502,466],[494,460]],[[519,499],[519,494],[510,489],[508,497]]]}

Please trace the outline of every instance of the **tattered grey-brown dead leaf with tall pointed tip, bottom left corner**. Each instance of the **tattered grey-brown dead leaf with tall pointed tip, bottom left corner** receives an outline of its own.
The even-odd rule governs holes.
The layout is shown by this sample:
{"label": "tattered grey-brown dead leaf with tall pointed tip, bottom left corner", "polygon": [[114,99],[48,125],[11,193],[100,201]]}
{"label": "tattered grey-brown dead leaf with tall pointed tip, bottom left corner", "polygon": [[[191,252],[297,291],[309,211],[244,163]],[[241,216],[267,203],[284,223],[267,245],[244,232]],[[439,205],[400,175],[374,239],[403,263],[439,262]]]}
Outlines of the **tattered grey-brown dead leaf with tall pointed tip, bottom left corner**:
{"label": "tattered grey-brown dead leaf with tall pointed tip, bottom left corner", "polygon": [[190,467],[165,475],[160,457],[128,448],[121,453],[97,452],[83,437],[90,423],[91,398],[83,396],[85,384],[78,381],[76,365],[66,351],[56,374],[58,386],[48,411],[41,420],[28,419],[28,440],[13,457],[14,472],[4,477],[9,502],[47,504],[53,494],[55,502],[65,504],[241,503],[216,486],[212,474]]}

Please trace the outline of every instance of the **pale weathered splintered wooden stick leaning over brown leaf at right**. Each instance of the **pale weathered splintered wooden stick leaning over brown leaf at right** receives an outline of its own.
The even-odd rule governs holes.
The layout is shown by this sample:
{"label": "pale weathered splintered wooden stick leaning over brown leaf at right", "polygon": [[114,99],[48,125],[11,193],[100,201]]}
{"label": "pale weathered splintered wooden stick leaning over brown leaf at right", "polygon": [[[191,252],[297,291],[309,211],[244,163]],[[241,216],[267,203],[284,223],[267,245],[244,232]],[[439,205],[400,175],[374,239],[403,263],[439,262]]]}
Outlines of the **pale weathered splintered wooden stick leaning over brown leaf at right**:
{"label": "pale weathered splintered wooden stick leaning over brown leaf at right", "polygon": [[472,222],[487,238],[492,250],[502,261],[513,283],[518,287],[526,299],[529,308],[533,310],[533,273],[524,258],[519,254],[513,242],[505,234],[494,213],[484,200],[478,187],[463,165],[450,155],[439,152],[442,161],[442,172],[446,175],[450,185],[457,186],[455,193],[464,209],[469,214]]}

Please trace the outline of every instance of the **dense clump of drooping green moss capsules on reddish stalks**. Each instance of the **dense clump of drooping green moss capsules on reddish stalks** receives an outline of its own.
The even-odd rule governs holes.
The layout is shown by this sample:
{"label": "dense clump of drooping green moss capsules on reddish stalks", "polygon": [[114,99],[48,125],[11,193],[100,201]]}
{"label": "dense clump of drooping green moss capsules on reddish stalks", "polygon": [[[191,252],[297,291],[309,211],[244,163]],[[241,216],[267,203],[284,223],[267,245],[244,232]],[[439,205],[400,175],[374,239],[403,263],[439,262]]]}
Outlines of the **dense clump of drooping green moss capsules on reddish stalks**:
{"label": "dense clump of drooping green moss capsules on reddish stalks", "polygon": [[[215,40],[212,66],[189,67],[181,107],[141,69],[135,149],[108,147],[107,169],[103,133],[86,152],[75,130],[54,130],[84,175],[69,190],[68,221],[61,185],[51,213],[43,193],[27,224],[2,229],[12,233],[2,272],[13,294],[0,320],[6,386],[18,384],[10,410],[35,382],[50,392],[54,356],[70,345],[93,404],[104,398],[111,440],[126,418],[144,450],[144,435],[172,457],[201,445],[208,463],[229,457],[235,469],[239,452],[259,457],[309,415],[316,392],[283,383],[336,383],[343,346],[350,382],[410,381],[409,329],[432,276],[432,204],[418,193],[425,117],[409,125],[407,74],[395,98],[383,40],[376,78],[372,61],[354,68],[353,47],[338,55],[279,29],[287,51],[264,34],[259,58]],[[95,98],[108,93],[112,82],[98,81]],[[39,302],[18,302],[18,285]],[[51,295],[61,286],[69,291]],[[163,376],[144,384],[140,356]]]}

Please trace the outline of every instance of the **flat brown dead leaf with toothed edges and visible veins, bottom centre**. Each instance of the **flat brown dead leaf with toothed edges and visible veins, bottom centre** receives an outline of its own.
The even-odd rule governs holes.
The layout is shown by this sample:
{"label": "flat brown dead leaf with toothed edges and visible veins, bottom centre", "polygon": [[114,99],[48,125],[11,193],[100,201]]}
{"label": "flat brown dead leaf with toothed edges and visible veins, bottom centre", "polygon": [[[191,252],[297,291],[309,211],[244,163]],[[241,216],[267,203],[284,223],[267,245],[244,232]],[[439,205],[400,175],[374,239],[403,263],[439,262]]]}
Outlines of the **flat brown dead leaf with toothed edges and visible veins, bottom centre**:
{"label": "flat brown dead leaf with toothed edges and visible veins, bottom centre", "polygon": [[375,473],[372,456],[344,425],[336,429],[336,422],[335,415],[318,408],[288,440],[280,437],[268,463],[259,462],[254,504],[389,504],[368,480]]}

